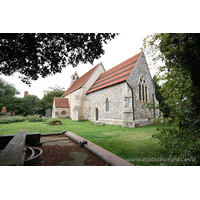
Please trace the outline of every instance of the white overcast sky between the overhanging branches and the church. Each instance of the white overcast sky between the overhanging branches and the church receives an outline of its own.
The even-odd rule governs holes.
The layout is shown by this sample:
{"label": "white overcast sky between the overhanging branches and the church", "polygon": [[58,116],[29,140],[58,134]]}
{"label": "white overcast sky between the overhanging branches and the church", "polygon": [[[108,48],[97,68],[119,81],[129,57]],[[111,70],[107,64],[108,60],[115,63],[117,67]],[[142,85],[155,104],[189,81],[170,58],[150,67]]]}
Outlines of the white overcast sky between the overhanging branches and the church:
{"label": "white overcast sky between the overhanging branches and the church", "polygon": [[[20,91],[19,97],[23,97],[24,91],[28,91],[29,94],[36,95],[38,98],[42,99],[44,90],[48,90],[50,86],[54,87],[55,85],[58,85],[67,90],[70,85],[70,77],[75,71],[77,71],[79,77],[81,77],[100,62],[103,63],[105,70],[108,70],[139,53],[141,51],[140,48],[142,47],[143,39],[149,34],[151,33],[120,33],[115,39],[104,45],[105,54],[100,59],[95,60],[93,65],[89,63],[79,64],[75,68],[68,65],[66,68],[63,68],[61,73],[33,81],[30,87],[18,78],[19,74],[10,77],[1,75],[0,77],[15,85]],[[150,71],[153,77],[154,71]]]}

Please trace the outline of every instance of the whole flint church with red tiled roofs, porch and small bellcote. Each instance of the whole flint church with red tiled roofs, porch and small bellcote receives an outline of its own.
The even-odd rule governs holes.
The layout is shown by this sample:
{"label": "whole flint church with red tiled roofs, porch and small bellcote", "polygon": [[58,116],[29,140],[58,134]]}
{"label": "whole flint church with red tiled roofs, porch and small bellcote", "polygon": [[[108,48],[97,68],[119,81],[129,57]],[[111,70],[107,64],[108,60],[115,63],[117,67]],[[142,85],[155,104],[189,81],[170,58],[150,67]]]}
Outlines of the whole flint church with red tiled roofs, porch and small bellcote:
{"label": "whole flint church with red tiled roofs, porch and small bellcote", "polygon": [[145,55],[140,52],[107,71],[99,63],[80,78],[75,72],[68,90],[54,98],[52,116],[143,126],[159,114],[158,109],[144,106],[149,102],[158,104]]}

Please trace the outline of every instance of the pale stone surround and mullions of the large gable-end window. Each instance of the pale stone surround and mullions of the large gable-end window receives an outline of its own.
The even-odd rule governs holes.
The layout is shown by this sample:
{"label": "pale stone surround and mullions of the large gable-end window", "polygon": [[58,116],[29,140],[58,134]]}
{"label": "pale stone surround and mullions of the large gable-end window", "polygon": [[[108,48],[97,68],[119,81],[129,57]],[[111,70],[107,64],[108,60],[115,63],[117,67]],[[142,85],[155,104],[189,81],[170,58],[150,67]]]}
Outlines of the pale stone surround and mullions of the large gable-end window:
{"label": "pale stone surround and mullions of the large gable-end window", "polygon": [[[142,83],[140,81],[140,79],[142,78]],[[143,82],[145,81],[145,83]],[[141,84],[141,87],[140,87],[140,90],[141,90],[141,100],[140,100],[140,94],[139,94],[139,84]],[[143,91],[142,91],[142,86],[144,86],[144,101],[143,101]],[[147,84],[147,81],[144,77],[143,74],[141,74],[139,76],[139,79],[138,79],[138,101],[139,102],[149,102],[149,90],[148,90],[148,84]],[[146,88],[146,89],[145,89]],[[147,91],[146,91],[147,90]]]}

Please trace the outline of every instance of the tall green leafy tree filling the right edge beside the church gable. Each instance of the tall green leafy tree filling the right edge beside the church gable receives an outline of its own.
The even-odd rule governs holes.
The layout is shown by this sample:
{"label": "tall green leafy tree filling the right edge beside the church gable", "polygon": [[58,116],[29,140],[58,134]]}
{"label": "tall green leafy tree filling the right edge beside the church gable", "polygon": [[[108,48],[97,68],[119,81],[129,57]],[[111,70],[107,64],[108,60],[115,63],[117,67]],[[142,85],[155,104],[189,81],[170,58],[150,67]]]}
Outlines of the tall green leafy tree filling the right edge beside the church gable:
{"label": "tall green leafy tree filling the right edge beside the church gable", "polygon": [[173,164],[199,165],[200,34],[154,34],[145,39],[144,47],[154,60],[164,62],[157,77],[170,107],[155,138],[170,150],[170,156],[182,158]]}

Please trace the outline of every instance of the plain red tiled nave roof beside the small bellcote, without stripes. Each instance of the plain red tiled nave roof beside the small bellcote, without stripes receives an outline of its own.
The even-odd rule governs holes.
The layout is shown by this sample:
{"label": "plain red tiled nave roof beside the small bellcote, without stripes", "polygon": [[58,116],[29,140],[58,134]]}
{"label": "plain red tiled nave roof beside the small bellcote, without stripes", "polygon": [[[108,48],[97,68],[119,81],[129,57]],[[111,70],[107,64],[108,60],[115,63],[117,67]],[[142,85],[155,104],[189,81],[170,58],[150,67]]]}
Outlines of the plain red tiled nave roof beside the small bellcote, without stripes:
{"label": "plain red tiled nave roof beside the small bellcote, without stripes", "polygon": [[[99,63],[100,64],[100,63]],[[83,86],[83,84],[88,80],[88,78],[90,77],[90,75],[95,71],[95,69],[99,66],[96,65],[95,67],[93,67],[90,71],[88,71],[87,73],[85,73],[83,76],[81,76],[79,79],[77,79],[73,85],[62,95],[62,97],[64,97],[65,95],[69,94],[70,92],[80,88]]]}

